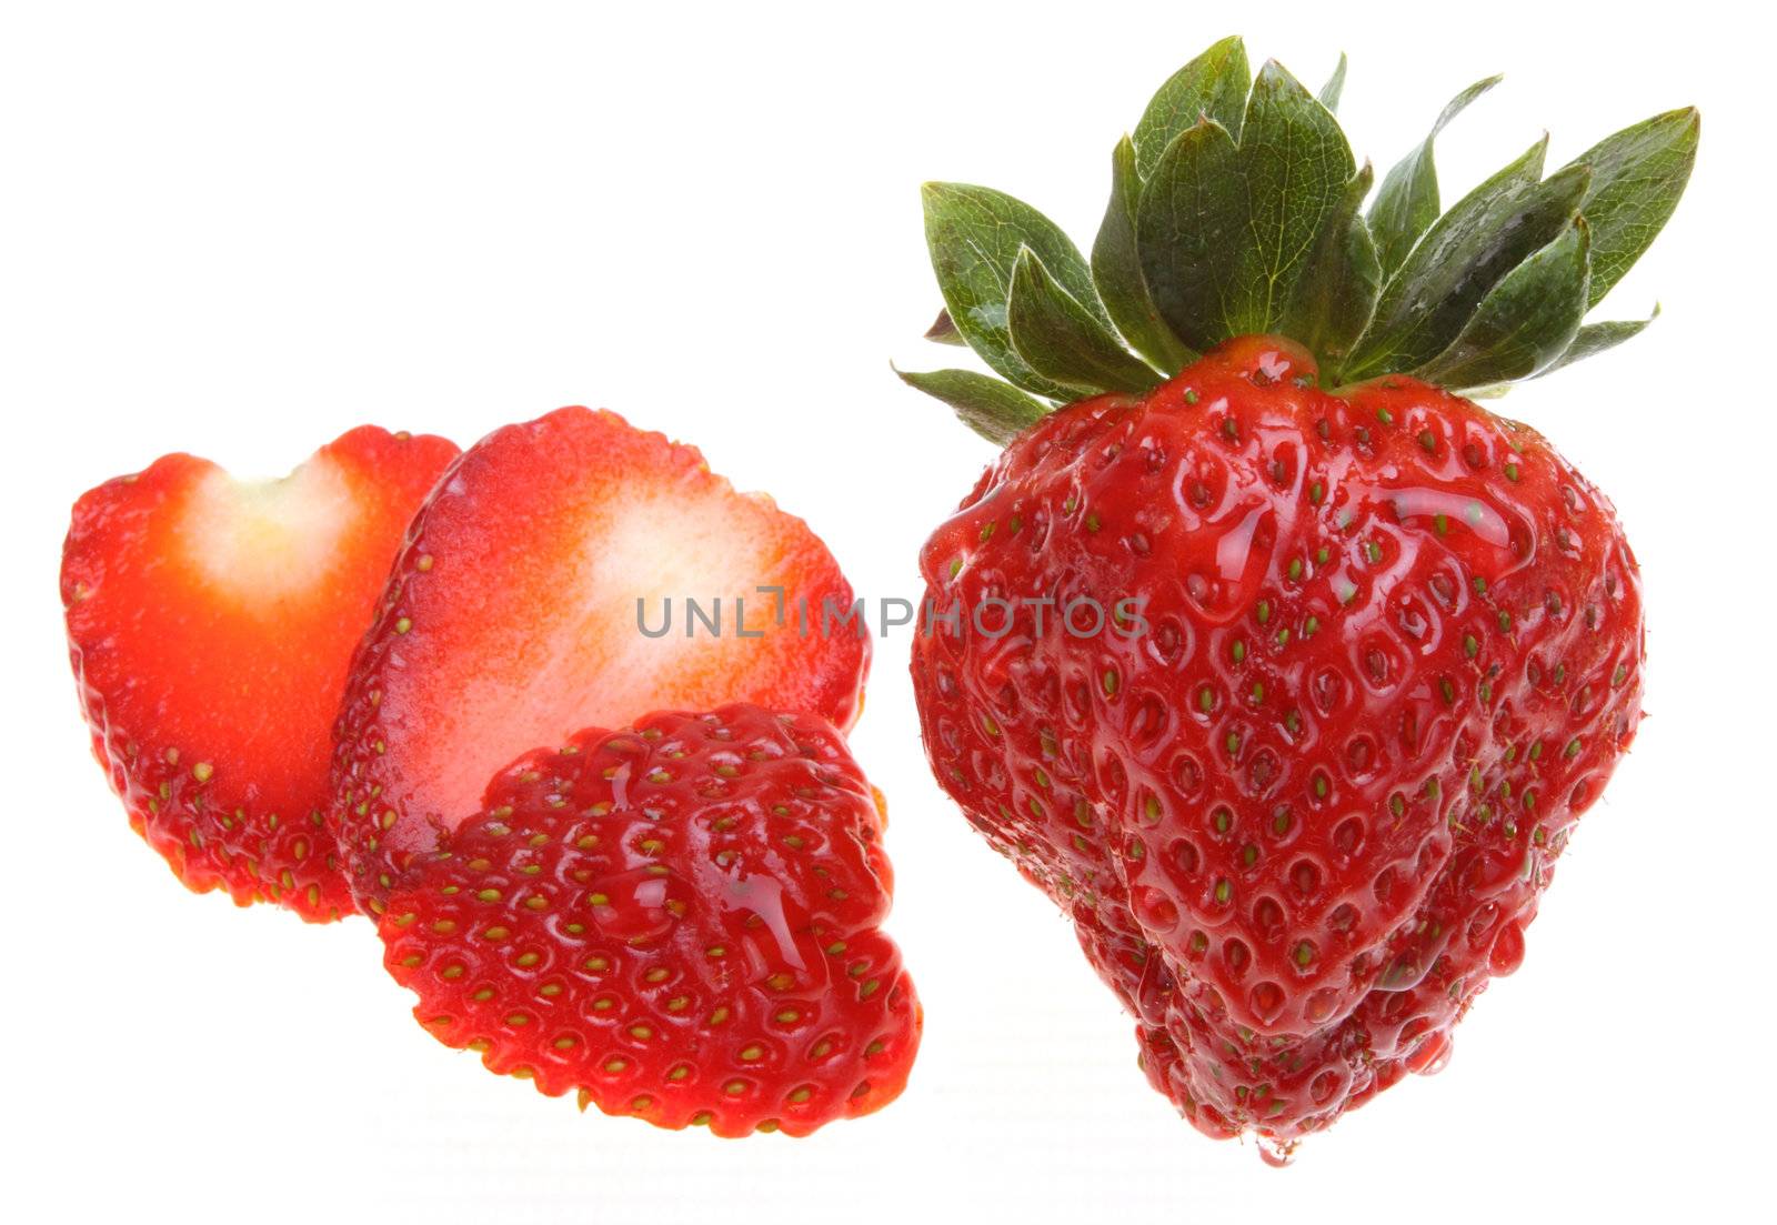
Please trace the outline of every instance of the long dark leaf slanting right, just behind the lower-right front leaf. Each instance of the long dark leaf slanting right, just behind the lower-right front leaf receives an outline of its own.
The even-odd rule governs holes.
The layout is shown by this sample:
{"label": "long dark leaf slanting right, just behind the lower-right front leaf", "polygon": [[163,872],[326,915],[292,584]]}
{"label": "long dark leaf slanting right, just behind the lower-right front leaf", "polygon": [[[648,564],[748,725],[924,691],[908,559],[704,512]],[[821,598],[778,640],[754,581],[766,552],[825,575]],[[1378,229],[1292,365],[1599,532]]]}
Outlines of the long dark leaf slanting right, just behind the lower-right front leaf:
{"label": "long dark leaf slanting right, just behind the lower-right front leaf", "polygon": [[1539,181],[1546,151],[1548,137],[1425,231],[1383,288],[1342,379],[1413,370],[1441,354],[1487,292],[1567,228],[1590,174],[1567,167]]}

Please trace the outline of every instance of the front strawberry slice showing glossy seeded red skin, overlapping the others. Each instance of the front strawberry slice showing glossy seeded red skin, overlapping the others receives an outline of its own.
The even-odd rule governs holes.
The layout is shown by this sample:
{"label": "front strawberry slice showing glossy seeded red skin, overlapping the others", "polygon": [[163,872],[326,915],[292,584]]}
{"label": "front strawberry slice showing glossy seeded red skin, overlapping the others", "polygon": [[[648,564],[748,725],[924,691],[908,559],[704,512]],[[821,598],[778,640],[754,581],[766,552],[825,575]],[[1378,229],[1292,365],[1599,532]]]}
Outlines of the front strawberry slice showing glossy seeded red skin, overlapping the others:
{"label": "front strawberry slice showing glossy seeded red skin, overlapping the others", "polygon": [[814,715],[730,704],[521,757],[373,903],[441,1042],[544,1093],[801,1136],[906,1085],[873,791]]}

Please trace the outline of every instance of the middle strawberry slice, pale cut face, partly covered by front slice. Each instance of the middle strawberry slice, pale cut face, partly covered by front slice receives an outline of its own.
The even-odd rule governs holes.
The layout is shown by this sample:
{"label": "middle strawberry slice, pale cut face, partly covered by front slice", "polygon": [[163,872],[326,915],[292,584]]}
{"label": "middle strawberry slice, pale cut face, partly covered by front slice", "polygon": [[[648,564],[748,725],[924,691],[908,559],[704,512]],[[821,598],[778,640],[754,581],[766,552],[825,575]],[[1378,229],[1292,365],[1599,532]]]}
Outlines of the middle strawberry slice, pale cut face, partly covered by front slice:
{"label": "middle strawberry slice, pale cut face, partly covered by front slice", "polygon": [[384,855],[430,850],[490,775],[579,727],[729,701],[848,727],[869,640],[823,608],[851,599],[801,519],[691,446],[588,409],[496,430],[414,519],[354,663],[334,766],[354,887],[379,894]]}

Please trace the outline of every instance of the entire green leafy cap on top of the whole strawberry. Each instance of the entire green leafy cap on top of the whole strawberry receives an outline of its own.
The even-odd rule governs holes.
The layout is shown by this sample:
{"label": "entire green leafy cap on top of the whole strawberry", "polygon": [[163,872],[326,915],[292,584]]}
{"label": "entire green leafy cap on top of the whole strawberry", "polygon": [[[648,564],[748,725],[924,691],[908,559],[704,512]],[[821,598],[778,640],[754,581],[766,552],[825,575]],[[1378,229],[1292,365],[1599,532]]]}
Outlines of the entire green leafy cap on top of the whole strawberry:
{"label": "entire green leafy cap on top of the whole strawberry", "polygon": [[[1443,210],[1432,144],[1498,84],[1457,94],[1381,185],[1333,110],[1239,37],[1175,73],[1111,155],[1091,254],[1011,196],[924,187],[944,293],[929,340],[972,370],[901,373],[1006,444],[1059,404],[1139,393],[1235,336],[1281,334],[1326,386],[1407,373],[1494,391],[1603,352],[1651,320],[1587,324],[1690,180],[1699,116],[1670,110],[1544,176],[1548,139]],[[1658,308],[1654,311],[1658,315]]]}

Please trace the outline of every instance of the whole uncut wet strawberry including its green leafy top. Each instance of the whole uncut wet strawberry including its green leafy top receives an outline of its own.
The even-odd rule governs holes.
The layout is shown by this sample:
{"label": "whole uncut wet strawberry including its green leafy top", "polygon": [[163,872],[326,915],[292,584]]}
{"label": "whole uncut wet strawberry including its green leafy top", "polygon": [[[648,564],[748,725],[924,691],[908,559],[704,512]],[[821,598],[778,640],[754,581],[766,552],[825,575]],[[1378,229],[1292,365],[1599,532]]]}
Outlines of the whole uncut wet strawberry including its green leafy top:
{"label": "whole uncut wet strawberry including its green leafy top", "polygon": [[1539,144],[1439,215],[1429,137],[1363,210],[1342,80],[1192,60],[1089,261],[929,185],[933,338],[1009,382],[903,375],[1006,448],[920,555],[938,782],[1070,914],[1150,1083],[1274,1159],[1443,1065],[1635,736],[1610,501],[1461,391],[1640,331],[1582,320],[1697,139],[1656,116],[1548,178]]}

